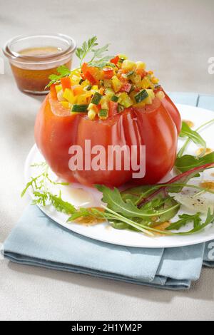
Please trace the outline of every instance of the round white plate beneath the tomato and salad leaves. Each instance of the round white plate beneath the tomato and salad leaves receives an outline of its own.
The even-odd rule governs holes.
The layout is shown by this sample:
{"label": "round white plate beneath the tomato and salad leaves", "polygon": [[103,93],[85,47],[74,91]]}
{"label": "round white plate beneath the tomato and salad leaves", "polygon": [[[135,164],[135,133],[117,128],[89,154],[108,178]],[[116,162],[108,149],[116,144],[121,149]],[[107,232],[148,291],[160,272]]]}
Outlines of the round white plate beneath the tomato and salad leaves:
{"label": "round white plate beneath the tomato and salad leaves", "polygon": [[[214,118],[214,113],[210,110],[205,110],[202,108],[195,108],[189,105],[177,105],[180,110],[181,117],[185,120],[193,121],[195,128],[205,123],[208,120]],[[201,131],[203,138],[205,138],[208,147],[214,149],[214,126],[211,125]],[[178,148],[182,145],[182,141],[179,140]],[[197,150],[197,146],[193,143],[188,148],[188,153],[193,154]],[[25,181],[28,182],[31,176],[39,174],[39,168],[32,168],[31,165],[34,163],[39,163],[43,161],[44,158],[39,153],[36,145],[31,149],[25,163]],[[209,178],[212,170],[204,172],[202,178]],[[58,180],[56,175],[51,172],[51,177]],[[69,185],[69,186],[55,186],[55,191],[59,189],[62,192],[63,200],[71,202],[73,205],[80,205],[80,200],[78,200],[78,194],[83,192],[79,189],[83,189],[87,192],[86,201],[83,205],[87,206],[99,206],[101,205],[101,193],[98,190],[94,190],[90,187],[84,187],[79,184]],[[78,189],[78,190],[76,190]],[[33,194],[29,190],[31,197]],[[56,194],[56,192],[55,192]],[[85,194],[86,195],[86,194]],[[84,195],[84,197],[85,197]],[[83,197],[81,197],[81,202],[83,202]],[[86,237],[91,237],[92,239],[97,239],[99,241],[108,242],[111,244],[119,244],[127,247],[147,247],[147,248],[163,248],[163,247],[183,247],[191,244],[198,244],[201,242],[207,242],[214,239],[214,225],[208,226],[203,232],[198,232],[197,234],[191,234],[189,236],[172,236],[172,237],[147,237],[144,234],[138,232],[131,232],[128,230],[115,230],[108,223],[103,223],[95,226],[78,225],[76,223],[67,223],[67,215],[61,212],[57,212],[53,207],[41,207],[41,210],[51,217],[52,220],[58,222],[59,225],[66,227],[68,230],[77,232],[78,234],[84,235]],[[190,212],[183,206],[180,208],[178,214],[182,212]],[[191,212],[190,212],[191,213]],[[177,220],[175,217],[175,220]]]}

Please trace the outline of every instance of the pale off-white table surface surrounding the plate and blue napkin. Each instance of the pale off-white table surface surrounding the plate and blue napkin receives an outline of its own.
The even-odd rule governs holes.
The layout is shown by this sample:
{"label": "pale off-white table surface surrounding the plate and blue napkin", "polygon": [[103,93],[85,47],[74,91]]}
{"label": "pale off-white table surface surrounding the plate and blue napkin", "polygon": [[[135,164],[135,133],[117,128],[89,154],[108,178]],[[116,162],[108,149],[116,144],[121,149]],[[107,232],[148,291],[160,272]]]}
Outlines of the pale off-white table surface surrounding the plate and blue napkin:
{"label": "pale off-white table surface surrounding the plate and blue napkin", "polygon": [[[3,1],[0,45],[19,33],[97,35],[111,53],[145,60],[169,91],[214,93],[213,0]],[[0,54],[0,56],[2,56]],[[24,160],[34,144],[41,98],[20,93],[5,63],[0,75],[0,242],[21,215]],[[165,292],[0,259],[0,319],[213,319],[214,272],[203,269],[189,292]]]}

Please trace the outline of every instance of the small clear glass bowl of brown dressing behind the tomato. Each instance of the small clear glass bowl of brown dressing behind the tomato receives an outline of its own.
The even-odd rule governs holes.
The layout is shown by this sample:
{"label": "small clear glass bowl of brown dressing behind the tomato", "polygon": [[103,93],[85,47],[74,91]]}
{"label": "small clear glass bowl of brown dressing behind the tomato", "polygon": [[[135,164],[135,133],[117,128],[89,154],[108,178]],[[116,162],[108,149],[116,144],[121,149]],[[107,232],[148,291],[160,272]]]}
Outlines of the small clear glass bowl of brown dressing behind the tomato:
{"label": "small clear glass bowl of brown dressing behind the tomato", "polygon": [[4,46],[4,55],[20,91],[35,95],[49,93],[49,76],[57,73],[58,66],[71,69],[76,41],[56,33],[53,35],[16,36]]}

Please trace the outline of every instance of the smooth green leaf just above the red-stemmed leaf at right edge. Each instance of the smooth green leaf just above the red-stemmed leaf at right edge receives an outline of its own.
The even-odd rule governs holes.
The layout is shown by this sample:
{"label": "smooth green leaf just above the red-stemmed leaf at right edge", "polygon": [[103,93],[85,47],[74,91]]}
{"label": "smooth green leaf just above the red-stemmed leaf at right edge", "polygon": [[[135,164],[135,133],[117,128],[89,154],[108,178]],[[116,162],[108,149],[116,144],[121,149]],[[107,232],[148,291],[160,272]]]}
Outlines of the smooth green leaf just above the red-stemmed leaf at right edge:
{"label": "smooth green leaf just above the red-stemmed leaf at right edge", "polygon": [[179,172],[186,172],[193,168],[198,168],[200,165],[214,163],[214,152],[209,153],[201,158],[196,158],[193,155],[183,155],[175,160],[175,168]]}

